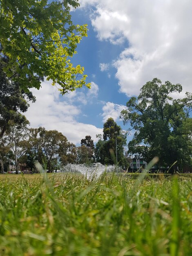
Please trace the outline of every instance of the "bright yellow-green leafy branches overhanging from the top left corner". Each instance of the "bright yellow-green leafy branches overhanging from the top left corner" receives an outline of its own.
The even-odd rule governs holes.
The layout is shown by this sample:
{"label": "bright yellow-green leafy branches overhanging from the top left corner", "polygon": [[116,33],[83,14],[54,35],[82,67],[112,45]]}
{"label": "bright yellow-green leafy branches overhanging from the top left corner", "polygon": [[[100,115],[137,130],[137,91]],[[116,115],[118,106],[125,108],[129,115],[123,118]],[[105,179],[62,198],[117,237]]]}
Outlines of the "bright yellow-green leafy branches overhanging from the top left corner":
{"label": "bright yellow-green leafy branches overhanging from the top left corner", "polygon": [[25,91],[39,89],[43,77],[62,94],[86,85],[84,68],[73,67],[71,57],[87,25],[73,24],[70,6],[78,0],[0,0],[0,55],[9,58],[4,71]]}

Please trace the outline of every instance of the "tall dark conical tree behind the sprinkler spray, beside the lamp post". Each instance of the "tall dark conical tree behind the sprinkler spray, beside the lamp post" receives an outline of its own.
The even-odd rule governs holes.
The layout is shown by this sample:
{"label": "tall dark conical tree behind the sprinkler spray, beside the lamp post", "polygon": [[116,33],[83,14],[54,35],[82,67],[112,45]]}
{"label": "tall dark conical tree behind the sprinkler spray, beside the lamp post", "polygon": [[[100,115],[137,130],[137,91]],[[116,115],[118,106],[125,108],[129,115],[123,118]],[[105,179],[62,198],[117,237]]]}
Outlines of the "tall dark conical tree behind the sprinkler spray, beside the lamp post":
{"label": "tall dark conical tree behind the sprinkler spray, beside the lamp post", "polygon": [[96,160],[102,164],[116,164],[116,142],[117,160],[120,166],[126,165],[124,146],[126,144],[126,134],[121,126],[118,126],[114,119],[110,117],[103,125],[103,139],[100,137],[95,148]]}

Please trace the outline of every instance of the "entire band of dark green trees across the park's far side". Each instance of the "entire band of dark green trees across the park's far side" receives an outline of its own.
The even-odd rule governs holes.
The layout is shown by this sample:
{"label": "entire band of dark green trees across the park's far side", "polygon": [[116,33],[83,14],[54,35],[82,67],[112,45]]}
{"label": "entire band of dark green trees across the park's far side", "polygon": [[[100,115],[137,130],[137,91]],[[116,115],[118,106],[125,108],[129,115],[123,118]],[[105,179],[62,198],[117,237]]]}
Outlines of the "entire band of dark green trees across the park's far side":
{"label": "entire band of dark green trees across the park's far side", "polygon": [[29,121],[24,113],[29,103],[36,99],[18,82],[7,78],[0,61],[1,171],[4,163],[11,161],[15,163],[17,172],[19,163],[25,163],[32,169],[35,161],[49,171],[67,163],[117,162],[122,168],[127,168],[133,155],[147,162],[158,156],[159,168],[174,164],[172,173],[192,166],[192,93],[186,92],[185,97],[174,99],[173,92],[179,94],[182,86],[172,85],[169,81],[163,85],[159,79],[153,79],[143,85],[137,98],[129,99],[127,109],[121,112],[123,123],[130,125],[128,132],[134,130],[128,150],[125,151],[127,132],[113,118],[107,119],[103,125],[103,135],[96,135],[96,145],[87,135],[81,140],[81,146],[76,147],[57,130],[27,128]]}

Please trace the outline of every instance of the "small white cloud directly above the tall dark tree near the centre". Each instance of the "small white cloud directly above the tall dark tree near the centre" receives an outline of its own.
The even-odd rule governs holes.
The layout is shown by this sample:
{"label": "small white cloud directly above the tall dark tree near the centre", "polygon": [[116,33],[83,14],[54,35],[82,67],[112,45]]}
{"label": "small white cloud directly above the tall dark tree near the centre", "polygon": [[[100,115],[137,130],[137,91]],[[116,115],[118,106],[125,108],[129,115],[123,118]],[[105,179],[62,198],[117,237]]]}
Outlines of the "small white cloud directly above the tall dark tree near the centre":
{"label": "small white cloud directly above the tall dark tree near the centre", "polygon": [[114,121],[118,121],[121,110],[125,108],[126,106],[114,104],[113,102],[105,103],[105,106],[103,106],[103,114],[101,115],[103,117],[103,122],[106,122],[109,117],[112,117]]}

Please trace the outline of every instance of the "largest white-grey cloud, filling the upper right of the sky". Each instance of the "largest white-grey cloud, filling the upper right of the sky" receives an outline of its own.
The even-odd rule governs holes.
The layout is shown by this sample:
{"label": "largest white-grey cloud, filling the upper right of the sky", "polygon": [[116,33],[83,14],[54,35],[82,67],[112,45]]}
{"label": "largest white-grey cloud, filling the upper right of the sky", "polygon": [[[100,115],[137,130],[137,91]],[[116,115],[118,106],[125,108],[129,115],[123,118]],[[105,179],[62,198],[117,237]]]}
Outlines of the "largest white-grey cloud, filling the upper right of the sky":
{"label": "largest white-grey cloud, filling the upper right of the sky", "polygon": [[114,60],[121,92],[138,95],[154,77],[192,91],[192,1],[81,0],[80,4],[94,6],[90,17],[99,40],[116,44],[126,40],[129,45]]}

